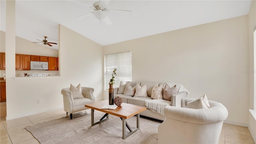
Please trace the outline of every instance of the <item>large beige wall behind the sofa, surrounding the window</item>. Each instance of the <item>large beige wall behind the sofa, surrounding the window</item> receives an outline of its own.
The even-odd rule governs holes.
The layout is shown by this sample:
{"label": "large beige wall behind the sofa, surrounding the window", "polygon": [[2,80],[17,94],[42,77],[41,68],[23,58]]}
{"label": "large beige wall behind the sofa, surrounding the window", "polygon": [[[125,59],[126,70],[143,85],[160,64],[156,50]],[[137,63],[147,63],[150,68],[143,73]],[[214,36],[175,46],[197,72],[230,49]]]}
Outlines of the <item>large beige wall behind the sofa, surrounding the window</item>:
{"label": "large beige wall behind the sofa, surrounding the window", "polygon": [[224,104],[229,123],[248,124],[247,15],[104,46],[129,50],[132,80],[183,84],[189,97]]}

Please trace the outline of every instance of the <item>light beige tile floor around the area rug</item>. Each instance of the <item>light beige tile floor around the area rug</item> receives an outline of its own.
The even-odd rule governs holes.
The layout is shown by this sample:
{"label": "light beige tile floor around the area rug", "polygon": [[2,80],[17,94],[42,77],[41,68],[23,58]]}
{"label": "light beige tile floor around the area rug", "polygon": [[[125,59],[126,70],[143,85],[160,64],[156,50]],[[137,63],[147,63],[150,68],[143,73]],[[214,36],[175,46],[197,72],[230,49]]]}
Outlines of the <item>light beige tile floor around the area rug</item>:
{"label": "light beige tile floor around the area rug", "polygon": [[[5,120],[6,102],[0,103],[0,144],[39,144],[39,142],[24,129],[41,122],[47,122],[66,117],[62,109],[43,112],[13,120]],[[219,144],[255,144],[247,127],[223,124]]]}

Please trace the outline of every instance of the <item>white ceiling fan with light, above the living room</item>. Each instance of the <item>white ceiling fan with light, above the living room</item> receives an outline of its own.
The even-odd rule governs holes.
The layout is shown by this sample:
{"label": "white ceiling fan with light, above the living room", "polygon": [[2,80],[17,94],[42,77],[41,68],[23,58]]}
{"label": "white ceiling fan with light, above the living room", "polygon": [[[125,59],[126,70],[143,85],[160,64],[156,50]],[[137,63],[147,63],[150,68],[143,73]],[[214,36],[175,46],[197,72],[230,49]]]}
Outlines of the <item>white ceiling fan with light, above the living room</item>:
{"label": "white ceiling fan with light, above the living room", "polygon": [[[112,24],[111,20],[108,18],[108,14],[107,14],[106,11],[108,11],[108,10],[117,10],[117,9],[108,9],[107,4],[105,2],[103,2],[102,0],[94,2],[93,5],[90,8],[93,8],[94,11],[88,12],[88,13],[83,14],[81,16],[78,16],[76,18],[83,19],[83,18],[86,18],[87,16],[91,16],[93,14],[95,16],[95,18],[100,20],[100,24],[102,23],[102,20],[107,25]],[[120,11],[131,12],[130,10],[120,10]]]}

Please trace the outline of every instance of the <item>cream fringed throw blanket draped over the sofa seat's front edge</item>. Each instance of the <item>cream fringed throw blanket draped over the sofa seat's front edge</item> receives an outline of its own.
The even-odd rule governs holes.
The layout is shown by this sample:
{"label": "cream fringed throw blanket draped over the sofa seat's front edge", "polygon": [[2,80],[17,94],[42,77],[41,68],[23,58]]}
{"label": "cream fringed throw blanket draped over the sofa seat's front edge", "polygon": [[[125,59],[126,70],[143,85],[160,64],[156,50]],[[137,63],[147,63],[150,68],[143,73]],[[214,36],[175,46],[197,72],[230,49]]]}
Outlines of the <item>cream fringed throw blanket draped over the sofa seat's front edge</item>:
{"label": "cream fringed throw blanket draped over the sofa seat's front edge", "polygon": [[158,114],[162,114],[164,116],[164,107],[171,106],[172,102],[168,100],[145,100],[146,108],[152,110],[153,112],[157,112]]}

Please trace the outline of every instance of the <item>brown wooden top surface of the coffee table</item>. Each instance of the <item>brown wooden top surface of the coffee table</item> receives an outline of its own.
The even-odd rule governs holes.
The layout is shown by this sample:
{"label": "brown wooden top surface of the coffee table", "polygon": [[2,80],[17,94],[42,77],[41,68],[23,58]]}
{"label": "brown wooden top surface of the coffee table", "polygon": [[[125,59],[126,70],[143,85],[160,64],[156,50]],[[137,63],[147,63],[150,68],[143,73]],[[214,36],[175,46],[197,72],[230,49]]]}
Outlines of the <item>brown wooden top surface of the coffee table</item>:
{"label": "brown wooden top surface of the coffee table", "polygon": [[112,114],[114,116],[118,116],[120,118],[130,118],[140,112],[146,110],[146,107],[136,106],[133,104],[122,103],[121,106],[118,106],[115,110],[111,109],[101,109],[104,105],[108,105],[108,100],[101,100],[98,102],[94,102],[91,104],[86,104],[85,107],[92,108],[94,110],[98,110],[101,112],[105,112],[107,114]]}

